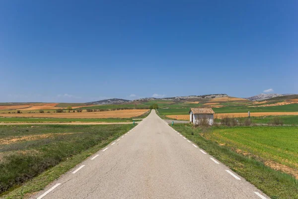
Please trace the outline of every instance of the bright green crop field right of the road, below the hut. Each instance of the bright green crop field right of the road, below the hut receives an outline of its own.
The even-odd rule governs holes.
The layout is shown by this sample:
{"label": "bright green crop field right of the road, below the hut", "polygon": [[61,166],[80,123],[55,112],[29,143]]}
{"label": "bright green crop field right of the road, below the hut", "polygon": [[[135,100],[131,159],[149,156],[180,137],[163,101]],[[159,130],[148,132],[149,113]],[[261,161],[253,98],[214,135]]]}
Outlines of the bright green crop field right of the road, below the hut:
{"label": "bright green crop field right of the road, below the hut", "polygon": [[298,170],[298,126],[215,127],[203,136]]}

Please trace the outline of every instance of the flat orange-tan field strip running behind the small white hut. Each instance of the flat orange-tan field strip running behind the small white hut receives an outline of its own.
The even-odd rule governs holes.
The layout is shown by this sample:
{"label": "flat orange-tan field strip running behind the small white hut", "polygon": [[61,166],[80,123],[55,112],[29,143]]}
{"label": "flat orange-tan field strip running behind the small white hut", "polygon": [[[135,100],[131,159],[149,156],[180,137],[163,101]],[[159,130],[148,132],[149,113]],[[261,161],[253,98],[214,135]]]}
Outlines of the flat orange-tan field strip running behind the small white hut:
{"label": "flat orange-tan field strip running behind the small white hut", "polygon": [[[221,118],[225,115],[228,115],[230,117],[247,117],[247,112],[241,112],[241,113],[218,113],[215,114],[215,118]],[[267,116],[267,115],[298,115],[298,112],[251,112],[250,116]],[[169,118],[176,119],[176,115],[166,115]],[[179,120],[189,120],[189,115],[177,115],[177,119]]]}

